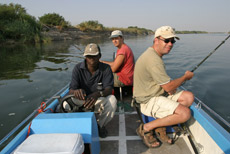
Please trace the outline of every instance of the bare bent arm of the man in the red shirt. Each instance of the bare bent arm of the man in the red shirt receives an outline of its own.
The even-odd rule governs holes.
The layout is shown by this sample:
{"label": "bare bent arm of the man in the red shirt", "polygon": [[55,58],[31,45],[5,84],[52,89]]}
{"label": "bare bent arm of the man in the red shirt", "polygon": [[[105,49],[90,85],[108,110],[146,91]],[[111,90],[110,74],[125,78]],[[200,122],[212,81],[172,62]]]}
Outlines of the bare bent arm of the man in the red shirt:
{"label": "bare bent arm of the man in the red shirt", "polygon": [[113,62],[102,61],[102,60],[101,60],[101,62],[110,65],[112,72],[115,73],[119,70],[119,68],[123,64],[124,60],[125,60],[124,55],[118,55]]}

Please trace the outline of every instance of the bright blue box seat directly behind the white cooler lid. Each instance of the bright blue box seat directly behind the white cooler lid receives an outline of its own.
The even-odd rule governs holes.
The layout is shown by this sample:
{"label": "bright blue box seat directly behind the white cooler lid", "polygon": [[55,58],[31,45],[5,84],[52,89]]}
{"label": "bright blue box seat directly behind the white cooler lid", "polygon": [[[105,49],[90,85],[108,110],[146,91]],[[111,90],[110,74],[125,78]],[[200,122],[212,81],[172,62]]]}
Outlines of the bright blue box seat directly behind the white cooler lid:
{"label": "bright blue box seat directly behind the white cooler lid", "polygon": [[100,153],[98,127],[93,112],[39,114],[31,125],[30,134],[79,133],[89,143],[92,154]]}

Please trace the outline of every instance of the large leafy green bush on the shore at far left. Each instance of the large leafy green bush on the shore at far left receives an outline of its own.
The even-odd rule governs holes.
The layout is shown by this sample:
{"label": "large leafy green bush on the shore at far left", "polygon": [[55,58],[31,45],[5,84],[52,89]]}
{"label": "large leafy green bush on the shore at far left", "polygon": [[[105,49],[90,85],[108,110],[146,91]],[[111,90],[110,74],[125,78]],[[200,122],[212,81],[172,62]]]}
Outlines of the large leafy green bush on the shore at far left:
{"label": "large leafy green bush on the shore at far left", "polygon": [[20,4],[0,4],[0,19],[1,42],[9,39],[21,42],[40,40],[40,25]]}

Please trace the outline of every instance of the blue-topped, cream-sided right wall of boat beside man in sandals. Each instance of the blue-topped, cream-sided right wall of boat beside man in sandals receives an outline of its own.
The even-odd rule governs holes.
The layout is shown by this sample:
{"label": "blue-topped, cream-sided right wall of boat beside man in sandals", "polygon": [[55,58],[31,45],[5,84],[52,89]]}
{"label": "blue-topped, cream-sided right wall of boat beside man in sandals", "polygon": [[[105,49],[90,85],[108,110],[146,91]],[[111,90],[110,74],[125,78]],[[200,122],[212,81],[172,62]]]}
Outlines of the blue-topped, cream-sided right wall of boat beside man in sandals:
{"label": "blue-topped, cream-sided right wall of boat beside man in sandals", "polygon": [[230,133],[196,103],[193,103],[190,109],[192,118],[186,124],[194,138],[198,153],[229,154]]}

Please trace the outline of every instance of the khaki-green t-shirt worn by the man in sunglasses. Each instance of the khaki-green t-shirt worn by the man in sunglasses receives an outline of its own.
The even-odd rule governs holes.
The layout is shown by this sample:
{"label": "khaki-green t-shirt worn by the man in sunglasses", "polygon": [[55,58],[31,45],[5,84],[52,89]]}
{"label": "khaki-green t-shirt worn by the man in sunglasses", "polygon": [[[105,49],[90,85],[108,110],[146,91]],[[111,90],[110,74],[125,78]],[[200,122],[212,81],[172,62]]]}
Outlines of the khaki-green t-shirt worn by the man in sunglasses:
{"label": "khaki-green t-shirt worn by the man in sunglasses", "polygon": [[134,69],[133,95],[138,103],[164,94],[161,85],[170,82],[162,58],[149,47],[137,60]]}

